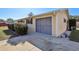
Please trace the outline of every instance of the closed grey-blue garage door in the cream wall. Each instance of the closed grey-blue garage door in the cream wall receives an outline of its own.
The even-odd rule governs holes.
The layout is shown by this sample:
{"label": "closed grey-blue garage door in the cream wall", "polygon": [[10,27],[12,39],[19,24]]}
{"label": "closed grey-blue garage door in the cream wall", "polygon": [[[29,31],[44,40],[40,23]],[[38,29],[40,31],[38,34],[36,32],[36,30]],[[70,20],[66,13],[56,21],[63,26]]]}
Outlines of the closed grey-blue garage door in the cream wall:
{"label": "closed grey-blue garage door in the cream wall", "polygon": [[36,19],[36,32],[52,34],[52,17]]}

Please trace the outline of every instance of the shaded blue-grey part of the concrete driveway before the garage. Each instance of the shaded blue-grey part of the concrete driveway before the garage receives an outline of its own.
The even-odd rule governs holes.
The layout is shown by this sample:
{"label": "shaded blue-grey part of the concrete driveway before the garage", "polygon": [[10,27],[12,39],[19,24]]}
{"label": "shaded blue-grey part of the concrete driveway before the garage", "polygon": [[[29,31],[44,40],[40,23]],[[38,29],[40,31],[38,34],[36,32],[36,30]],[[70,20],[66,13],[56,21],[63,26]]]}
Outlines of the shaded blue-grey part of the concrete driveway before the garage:
{"label": "shaded blue-grey part of the concrete driveway before the garage", "polygon": [[70,41],[68,38],[56,38],[41,33],[31,33],[8,40],[10,44],[30,42],[43,51],[79,51],[79,43]]}

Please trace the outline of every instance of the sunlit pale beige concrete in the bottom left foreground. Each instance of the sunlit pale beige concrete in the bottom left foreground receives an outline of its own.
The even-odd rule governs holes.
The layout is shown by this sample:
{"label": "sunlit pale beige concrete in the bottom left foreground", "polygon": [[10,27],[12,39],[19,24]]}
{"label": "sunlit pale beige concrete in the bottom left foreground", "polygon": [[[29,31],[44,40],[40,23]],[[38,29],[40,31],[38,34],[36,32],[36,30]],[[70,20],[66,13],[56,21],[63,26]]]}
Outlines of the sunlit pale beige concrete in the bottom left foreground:
{"label": "sunlit pale beige concrete in the bottom left foreground", "polygon": [[0,51],[41,51],[39,48],[26,41],[24,44],[19,43],[16,46],[10,45],[7,40],[0,41]]}

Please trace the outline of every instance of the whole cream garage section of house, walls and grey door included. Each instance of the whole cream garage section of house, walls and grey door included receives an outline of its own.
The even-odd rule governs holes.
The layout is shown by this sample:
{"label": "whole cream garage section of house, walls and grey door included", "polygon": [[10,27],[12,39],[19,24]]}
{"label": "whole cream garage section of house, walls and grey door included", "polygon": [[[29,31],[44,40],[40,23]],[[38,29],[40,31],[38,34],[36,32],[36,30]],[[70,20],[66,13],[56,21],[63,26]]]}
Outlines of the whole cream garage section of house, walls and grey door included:
{"label": "whole cream garage section of house, walls and grey door included", "polygon": [[61,9],[32,16],[32,31],[59,36],[67,30],[68,10]]}

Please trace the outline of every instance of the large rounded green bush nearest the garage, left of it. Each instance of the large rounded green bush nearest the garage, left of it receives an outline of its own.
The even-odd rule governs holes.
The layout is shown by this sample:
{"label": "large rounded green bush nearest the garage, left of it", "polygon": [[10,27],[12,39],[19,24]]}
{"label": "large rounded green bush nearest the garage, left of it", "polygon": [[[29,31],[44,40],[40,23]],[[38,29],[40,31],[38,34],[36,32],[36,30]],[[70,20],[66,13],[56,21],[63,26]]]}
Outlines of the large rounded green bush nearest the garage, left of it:
{"label": "large rounded green bush nearest the garage, left of it", "polygon": [[15,24],[14,29],[17,34],[25,35],[27,34],[28,26],[24,24]]}

